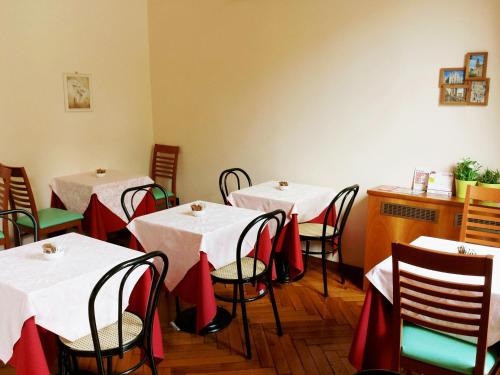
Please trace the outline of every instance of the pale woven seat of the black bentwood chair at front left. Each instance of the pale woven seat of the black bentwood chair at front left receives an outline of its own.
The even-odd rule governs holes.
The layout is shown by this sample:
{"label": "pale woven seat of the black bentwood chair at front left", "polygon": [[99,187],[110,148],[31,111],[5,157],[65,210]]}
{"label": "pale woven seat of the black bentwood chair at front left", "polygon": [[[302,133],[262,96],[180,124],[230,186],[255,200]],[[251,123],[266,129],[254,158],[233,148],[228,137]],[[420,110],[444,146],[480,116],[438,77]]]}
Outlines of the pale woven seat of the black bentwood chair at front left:
{"label": "pale woven seat of the black bentwood chair at front left", "polygon": [[[139,318],[137,315],[125,311],[123,313],[122,327],[123,345],[126,345],[134,341],[141,334],[143,324],[141,318]],[[98,332],[101,350],[105,351],[118,348],[118,322],[104,327]],[[59,339],[70,349],[81,352],[94,351],[94,342],[92,341],[92,335],[90,334],[75,341],[68,341],[62,337],[59,337]]]}

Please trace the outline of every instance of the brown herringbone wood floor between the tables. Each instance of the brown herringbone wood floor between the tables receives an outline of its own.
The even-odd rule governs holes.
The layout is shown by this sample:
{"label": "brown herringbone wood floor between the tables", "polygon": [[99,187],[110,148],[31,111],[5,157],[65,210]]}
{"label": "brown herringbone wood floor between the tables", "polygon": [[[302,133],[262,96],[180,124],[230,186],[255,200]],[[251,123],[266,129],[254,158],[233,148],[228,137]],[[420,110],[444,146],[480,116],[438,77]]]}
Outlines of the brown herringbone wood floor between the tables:
{"label": "brown herringbone wood floor between the tables", "polygon": [[[312,262],[316,263],[316,262]],[[277,286],[276,298],[283,325],[282,337],[276,335],[269,298],[248,304],[252,360],[244,357],[244,335],[238,317],[221,332],[205,337],[176,332],[169,322],[175,317],[174,301],[163,298],[160,318],[164,334],[165,359],[159,373],[167,374],[352,374],[347,355],[364,299],[363,292],[338,275],[329,273],[330,296],[322,296],[322,277],[318,264],[311,264],[306,276],[295,283]],[[218,286],[219,293],[232,289]],[[230,310],[229,304],[220,303]],[[116,369],[137,358],[132,352]],[[92,368],[85,360],[82,367]],[[12,369],[0,369],[0,375]],[[150,374],[143,367],[136,374]]]}

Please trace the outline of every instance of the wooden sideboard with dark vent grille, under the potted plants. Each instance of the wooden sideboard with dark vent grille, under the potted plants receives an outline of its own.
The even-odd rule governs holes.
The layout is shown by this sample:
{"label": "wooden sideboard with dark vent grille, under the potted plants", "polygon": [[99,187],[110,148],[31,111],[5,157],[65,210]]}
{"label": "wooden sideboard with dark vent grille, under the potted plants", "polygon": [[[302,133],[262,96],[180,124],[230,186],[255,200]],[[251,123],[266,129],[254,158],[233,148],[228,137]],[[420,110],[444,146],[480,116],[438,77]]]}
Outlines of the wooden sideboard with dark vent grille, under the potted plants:
{"label": "wooden sideboard with dark vent grille, under the potted plants", "polygon": [[392,242],[410,243],[419,236],[458,240],[463,207],[464,200],[456,197],[388,186],[368,190],[365,274],[391,255]]}

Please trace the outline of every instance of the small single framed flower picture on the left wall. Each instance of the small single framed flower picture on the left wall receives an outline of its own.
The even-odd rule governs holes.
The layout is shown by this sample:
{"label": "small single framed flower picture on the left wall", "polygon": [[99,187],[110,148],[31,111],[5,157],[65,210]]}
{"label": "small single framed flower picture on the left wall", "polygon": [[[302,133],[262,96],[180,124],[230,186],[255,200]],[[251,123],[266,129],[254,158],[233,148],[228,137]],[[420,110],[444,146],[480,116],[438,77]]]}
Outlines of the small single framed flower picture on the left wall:
{"label": "small single framed flower picture on the left wall", "polygon": [[90,74],[64,74],[64,103],[69,112],[92,111]]}

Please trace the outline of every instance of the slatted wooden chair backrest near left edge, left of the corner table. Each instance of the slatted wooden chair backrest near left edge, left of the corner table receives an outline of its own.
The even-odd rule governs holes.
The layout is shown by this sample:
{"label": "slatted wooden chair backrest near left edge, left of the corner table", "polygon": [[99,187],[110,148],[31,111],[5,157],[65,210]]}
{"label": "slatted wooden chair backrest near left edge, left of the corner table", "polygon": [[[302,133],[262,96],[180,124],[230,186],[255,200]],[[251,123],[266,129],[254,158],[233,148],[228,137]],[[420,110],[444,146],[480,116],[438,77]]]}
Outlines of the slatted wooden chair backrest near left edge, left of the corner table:
{"label": "slatted wooden chair backrest near left edge, left of the corner table", "polygon": [[[38,223],[38,212],[30,181],[24,167],[7,167],[10,169],[9,202],[12,209],[30,211]],[[13,214],[17,220],[17,213]]]}

